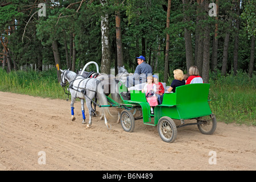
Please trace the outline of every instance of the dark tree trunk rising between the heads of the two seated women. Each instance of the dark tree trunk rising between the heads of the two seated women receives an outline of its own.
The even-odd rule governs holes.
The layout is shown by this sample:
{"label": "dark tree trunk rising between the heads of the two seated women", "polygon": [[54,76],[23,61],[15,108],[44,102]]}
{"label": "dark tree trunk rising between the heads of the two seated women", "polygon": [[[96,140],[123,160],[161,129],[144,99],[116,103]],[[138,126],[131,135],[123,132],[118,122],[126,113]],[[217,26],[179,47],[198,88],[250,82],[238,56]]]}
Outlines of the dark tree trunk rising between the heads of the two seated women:
{"label": "dark tree trunk rising between the heads of the two seated women", "polygon": [[[185,22],[189,22],[190,18],[189,16],[185,13],[185,10],[190,6],[188,3],[188,0],[182,0],[183,3],[183,13],[184,13],[184,19]],[[186,52],[186,65],[187,65],[187,72],[189,68],[193,65],[193,49],[192,49],[192,39],[191,39],[191,31],[188,30],[185,27],[185,32],[184,32],[184,39],[185,39],[185,52]]]}

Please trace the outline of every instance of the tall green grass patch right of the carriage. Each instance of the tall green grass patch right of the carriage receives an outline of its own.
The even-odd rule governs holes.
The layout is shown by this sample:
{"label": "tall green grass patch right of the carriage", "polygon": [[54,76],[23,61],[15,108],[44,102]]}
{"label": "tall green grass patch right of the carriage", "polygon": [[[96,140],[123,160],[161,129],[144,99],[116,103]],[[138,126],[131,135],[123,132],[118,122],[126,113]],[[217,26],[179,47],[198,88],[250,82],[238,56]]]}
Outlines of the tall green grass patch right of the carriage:
{"label": "tall green grass patch right of the carriage", "polygon": [[256,126],[255,78],[242,72],[237,76],[211,76],[210,108],[218,120]]}

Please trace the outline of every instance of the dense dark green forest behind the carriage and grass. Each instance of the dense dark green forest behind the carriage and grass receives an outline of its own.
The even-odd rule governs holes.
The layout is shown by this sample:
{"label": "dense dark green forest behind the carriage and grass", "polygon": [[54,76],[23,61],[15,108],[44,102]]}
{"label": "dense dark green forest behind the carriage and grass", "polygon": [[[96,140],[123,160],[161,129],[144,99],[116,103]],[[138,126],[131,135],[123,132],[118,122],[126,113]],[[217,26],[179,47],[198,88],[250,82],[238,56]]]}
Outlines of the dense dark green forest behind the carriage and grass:
{"label": "dense dark green forest behind the carriage and grass", "polygon": [[[167,82],[174,69],[254,72],[256,0],[1,0],[0,65],[76,71],[96,61],[101,73],[146,57]],[[115,72],[117,73],[117,72]]]}

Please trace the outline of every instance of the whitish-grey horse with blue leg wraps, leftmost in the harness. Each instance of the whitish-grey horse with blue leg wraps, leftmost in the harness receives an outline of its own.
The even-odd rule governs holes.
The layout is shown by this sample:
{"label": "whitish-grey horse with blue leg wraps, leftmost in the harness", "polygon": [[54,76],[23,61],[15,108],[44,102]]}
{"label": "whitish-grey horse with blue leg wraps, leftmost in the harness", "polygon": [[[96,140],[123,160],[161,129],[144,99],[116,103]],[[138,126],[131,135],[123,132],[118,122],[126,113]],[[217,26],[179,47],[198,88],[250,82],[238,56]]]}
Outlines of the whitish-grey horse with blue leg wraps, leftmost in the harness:
{"label": "whitish-grey horse with blue leg wraps, leftmost in the harness", "polygon": [[[84,78],[80,75],[77,75],[75,72],[69,70],[61,70],[61,86],[66,86],[67,81],[69,82],[69,92],[71,94],[71,115],[72,121],[75,121],[74,114],[74,103],[76,98],[80,98],[81,100],[81,110],[82,110],[82,123],[85,122],[85,114],[84,114],[84,98],[86,101],[86,106],[89,110],[89,123],[87,127],[92,125],[92,114],[94,112],[92,108],[93,98],[96,97],[99,101],[99,107],[101,105],[108,105],[107,98],[104,94],[104,89],[102,83],[96,78]],[[110,128],[110,124],[108,123],[108,119],[113,117],[109,112],[109,107],[100,107],[100,113],[104,115],[105,125]]]}

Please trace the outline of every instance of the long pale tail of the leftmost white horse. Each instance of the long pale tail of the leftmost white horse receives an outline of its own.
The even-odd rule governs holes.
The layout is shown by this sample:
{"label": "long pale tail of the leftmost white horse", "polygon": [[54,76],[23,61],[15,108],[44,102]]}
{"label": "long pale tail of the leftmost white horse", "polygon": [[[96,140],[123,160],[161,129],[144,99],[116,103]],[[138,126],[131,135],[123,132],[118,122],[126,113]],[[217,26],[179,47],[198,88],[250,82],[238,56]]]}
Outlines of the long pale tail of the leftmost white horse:
{"label": "long pale tail of the leftmost white horse", "polygon": [[[103,84],[97,80],[97,98],[100,105],[108,105],[108,100],[104,93]],[[106,119],[113,118],[114,116],[110,113],[109,107],[100,107],[100,114],[104,114]]]}

